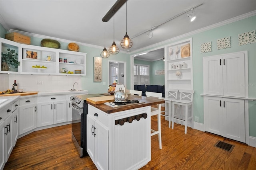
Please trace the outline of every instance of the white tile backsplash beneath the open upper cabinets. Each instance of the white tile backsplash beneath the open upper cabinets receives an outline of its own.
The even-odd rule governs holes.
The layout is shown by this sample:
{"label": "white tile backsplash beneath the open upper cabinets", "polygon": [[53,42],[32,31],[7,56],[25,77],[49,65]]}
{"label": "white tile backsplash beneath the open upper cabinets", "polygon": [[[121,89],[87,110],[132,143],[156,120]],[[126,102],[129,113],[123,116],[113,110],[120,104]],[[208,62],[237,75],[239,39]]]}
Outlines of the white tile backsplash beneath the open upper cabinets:
{"label": "white tile backsplash beneath the open upper cabinets", "polygon": [[[6,75],[8,75],[8,77]],[[12,89],[12,84],[14,84],[14,80],[16,80],[16,83],[18,84],[18,89],[23,89],[24,92],[70,90],[75,82],[78,82],[78,84],[74,85],[75,89],[86,90],[82,89],[80,76],[1,74],[0,78],[0,90],[7,90],[8,88]],[[2,81],[3,79],[4,81]]]}

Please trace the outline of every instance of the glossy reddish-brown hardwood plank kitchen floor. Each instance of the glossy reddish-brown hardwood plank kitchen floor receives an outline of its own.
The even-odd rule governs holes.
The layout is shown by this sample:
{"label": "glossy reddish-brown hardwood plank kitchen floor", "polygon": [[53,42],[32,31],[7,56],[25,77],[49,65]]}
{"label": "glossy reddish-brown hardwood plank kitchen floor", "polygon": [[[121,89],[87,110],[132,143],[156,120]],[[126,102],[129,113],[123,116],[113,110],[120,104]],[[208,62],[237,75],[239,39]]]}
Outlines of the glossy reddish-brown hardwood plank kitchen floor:
{"label": "glossy reddish-brown hardwood plank kitchen floor", "polygon": [[[156,127],[156,117],[152,126]],[[216,135],[174,125],[162,117],[162,150],[151,137],[151,161],[141,170],[256,170],[256,148]],[[214,147],[217,141],[235,145],[232,152]],[[96,170],[89,156],[80,158],[71,140],[71,125],[36,131],[18,139],[4,170]]]}

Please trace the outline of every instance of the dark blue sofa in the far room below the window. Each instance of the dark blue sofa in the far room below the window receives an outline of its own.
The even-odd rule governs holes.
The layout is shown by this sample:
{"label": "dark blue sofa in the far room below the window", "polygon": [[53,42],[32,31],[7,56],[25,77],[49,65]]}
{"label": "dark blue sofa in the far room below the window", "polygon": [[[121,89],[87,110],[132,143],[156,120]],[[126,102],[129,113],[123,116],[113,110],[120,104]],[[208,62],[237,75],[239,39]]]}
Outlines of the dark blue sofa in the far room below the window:
{"label": "dark blue sofa in the far room below the window", "polygon": [[134,90],[142,91],[142,96],[146,96],[146,91],[148,92],[156,92],[162,93],[162,97],[164,97],[164,86],[161,85],[134,85]]}

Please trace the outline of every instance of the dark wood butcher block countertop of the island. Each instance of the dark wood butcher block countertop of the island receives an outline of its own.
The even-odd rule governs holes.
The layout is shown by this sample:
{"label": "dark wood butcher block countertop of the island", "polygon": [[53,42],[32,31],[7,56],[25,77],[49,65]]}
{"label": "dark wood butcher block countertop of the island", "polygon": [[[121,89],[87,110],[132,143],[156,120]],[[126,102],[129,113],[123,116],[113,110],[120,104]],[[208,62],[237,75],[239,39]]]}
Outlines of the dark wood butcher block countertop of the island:
{"label": "dark wood butcher block countertop of the island", "polygon": [[[140,103],[126,104],[126,105],[118,106],[118,107],[111,107],[104,103],[103,104],[94,104],[87,100],[86,100],[86,103],[104,111],[105,113],[115,113],[118,111],[136,109],[139,107],[152,106],[152,105],[164,103],[163,99],[158,99],[158,98],[154,98],[154,97],[146,97],[146,96],[136,96],[136,95],[131,95],[131,94],[128,94],[128,100],[138,100],[138,101],[140,101]],[[112,102],[114,102],[114,100]]]}

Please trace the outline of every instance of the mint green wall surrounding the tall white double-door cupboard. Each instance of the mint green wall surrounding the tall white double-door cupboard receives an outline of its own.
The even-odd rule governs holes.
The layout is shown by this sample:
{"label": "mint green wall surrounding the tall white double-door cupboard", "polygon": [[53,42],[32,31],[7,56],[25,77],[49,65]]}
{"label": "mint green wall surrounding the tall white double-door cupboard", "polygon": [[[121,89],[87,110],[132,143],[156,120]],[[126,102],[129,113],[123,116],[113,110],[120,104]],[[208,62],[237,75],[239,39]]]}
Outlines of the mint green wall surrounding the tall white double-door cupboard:
{"label": "mint green wall surrounding the tall white double-door cupboard", "polygon": [[[204,107],[203,107],[203,64],[202,58],[212,55],[220,55],[226,53],[234,53],[238,51],[248,51],[248,74],[249,74],[249,97],[256,98],[256,43],[238,46],[238,34],[256,29],[256,16],[252,16],[240,21],[229,23],[220,27],[216,27],[201,33],[197,33],[176,41],[166,42],[164,44],[151,47],[144,51],[155,49],[188,39],[192,37],[192,53],[193,53],[193,86],[194,86],[194,116],[199,117],[199,122],[204,123]],[[231,37],[231,48],[217,50],[217,39]],[[201,43],[212,42],[212,52],[200,53]],[[141,53],[143,51],[137,51]],[[256,137],[256,101],[249,102],[249,135]]]}

